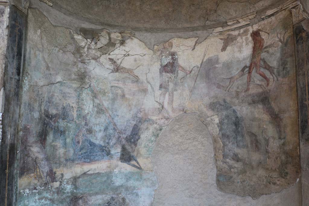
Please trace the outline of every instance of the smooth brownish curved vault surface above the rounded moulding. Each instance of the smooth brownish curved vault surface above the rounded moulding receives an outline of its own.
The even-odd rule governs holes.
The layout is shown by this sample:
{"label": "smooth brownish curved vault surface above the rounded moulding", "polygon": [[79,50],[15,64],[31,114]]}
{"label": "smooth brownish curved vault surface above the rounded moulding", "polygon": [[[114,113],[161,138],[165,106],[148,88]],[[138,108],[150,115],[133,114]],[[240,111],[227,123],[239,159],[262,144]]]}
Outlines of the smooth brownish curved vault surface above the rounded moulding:
{"label": "smooth brownish curved vault surface above the rounded moulding", "polygon": [[286,0],[50,0],[64,12],[99,22],[144,28],[184,28],[223,22]]}

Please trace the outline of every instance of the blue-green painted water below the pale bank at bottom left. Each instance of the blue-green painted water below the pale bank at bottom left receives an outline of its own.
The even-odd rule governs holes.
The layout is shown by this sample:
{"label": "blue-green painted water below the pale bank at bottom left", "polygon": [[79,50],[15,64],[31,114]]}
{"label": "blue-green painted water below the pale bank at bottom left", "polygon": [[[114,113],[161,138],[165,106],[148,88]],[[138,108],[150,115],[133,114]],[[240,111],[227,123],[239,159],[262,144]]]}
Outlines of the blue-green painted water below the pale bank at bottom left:
{"label": "blue-green painted water below the pale bank at bottom left", "polygon": [[19,192],[19,206],[64,206],[87,196],[88,204],[106,204],[112,195],[121,194],[134,205],[150,205],[157,179],[153,172],[112,171],[83,174],[64,180],[57,188],[51,185]]}

